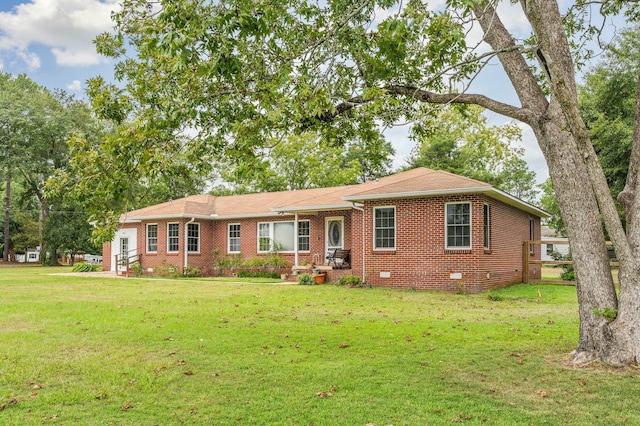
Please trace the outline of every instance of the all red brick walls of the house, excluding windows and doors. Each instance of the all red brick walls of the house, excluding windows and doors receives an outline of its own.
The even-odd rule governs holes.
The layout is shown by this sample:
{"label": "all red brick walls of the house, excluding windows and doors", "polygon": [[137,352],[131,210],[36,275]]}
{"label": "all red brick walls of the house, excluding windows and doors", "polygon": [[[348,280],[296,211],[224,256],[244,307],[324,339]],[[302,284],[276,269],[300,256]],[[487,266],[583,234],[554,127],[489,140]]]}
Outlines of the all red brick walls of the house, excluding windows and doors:
{"label": "all red brick walls of the house, excluding windows and doors", "polygon": [[[445,249],[445,203],[471,202],[470,250]],[[483,236],[483,206],[490,206],[491,248],[485,250]],[[395,206],[395,250],[373,249],[373,208]],[[299,263],[311,263],[319,259],[325,262],[325,220],[327,217],[344,218],[344,247],[351,249],[350,273],[372,286],[416,288],[421,290],[481,292],[505,286],[522,279],[522,243],[529,239],[529,220],[534,220],[534,239],[540,238],[540,219],[500,201],[480,194],[446,197],[414,198],[370,201],[363,213],[357,209],[319,212],[300,215],[299,220],[309,220],[310,250],[299,253]],[[200,252],[189,253],[189,266],[199,268],[203,274],[211,273],[213,252],[227,254],[227,234],[230,223],[239,223],[240,248],[245,259],[259,256],[257,235],[259,222],[292,221],[292,215],[241,220],[196,220],[200,224]],[[145,271],[151,268],[159,272],[173,266],[182,271],[184,265],[184,230],[188,219],[172,220],[179,223],[179,250],[167,253],[167,221],[150,221],[128,224],[137,229],[137,249],[142,255]],[[146,252],[147,223],[158,225],[158,251]],[[290,265],[293,253],[281,253]],[[103,269],[109,269],[111,246],[103,246]],[[540,247],[536,247],[533,259],[540,259]],[[337,275],[344,275],[341,272]],[[381,275],[382,273],[382,275]],[[452,274],[460,274],[460,278]],[[336,275],[336,277],[337,277]],[[539,278],[540,268],[531,268],[531,278]]]}

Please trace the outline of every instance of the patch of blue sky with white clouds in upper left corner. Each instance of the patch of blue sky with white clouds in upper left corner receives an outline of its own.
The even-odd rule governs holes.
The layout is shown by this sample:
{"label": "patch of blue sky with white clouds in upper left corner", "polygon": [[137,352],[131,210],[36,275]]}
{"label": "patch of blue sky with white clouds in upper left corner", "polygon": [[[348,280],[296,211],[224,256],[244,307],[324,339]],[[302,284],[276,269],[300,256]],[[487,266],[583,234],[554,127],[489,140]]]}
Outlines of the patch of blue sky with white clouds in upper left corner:
{"label": "patch of blue sky with white clouds in upper left corner", "polygon": [[92,40],[112,28],[115,7],[117,0],[2,0],[0,70],[82,96],[88,78],[113,78]]}

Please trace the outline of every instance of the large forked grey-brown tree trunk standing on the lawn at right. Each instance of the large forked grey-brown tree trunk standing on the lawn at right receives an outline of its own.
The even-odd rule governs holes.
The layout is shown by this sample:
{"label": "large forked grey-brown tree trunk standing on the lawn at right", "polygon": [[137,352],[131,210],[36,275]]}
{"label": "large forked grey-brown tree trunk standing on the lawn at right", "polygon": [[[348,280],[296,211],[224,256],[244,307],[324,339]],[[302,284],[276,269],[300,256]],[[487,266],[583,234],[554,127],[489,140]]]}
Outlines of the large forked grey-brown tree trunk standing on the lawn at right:
{"label": "large forked grey-brown tree trunk standing on the lawn at right", "polygon": [[[571,53],[553,0],[522,0],[537,35],[538,56],[551,89],[547,101],[515,42],[489,4],[474,12],[485,41],[496,51],[549,166],[562,219],[571,242],[579,302],[580,339],[575,362],[612,364],[640,360],[640,267],[620,224],[602,167],[578,111]],[[637,196],[637,194],[635,194]],[[602,216],[601,216],[602,215]],[[604,219],[620,261],[617,298],[601,224]],[[638,253],[635,253],[636,255]],[[617,317],[612,321],[611,315]],[[610,314],[609,317],[603,315]]]}

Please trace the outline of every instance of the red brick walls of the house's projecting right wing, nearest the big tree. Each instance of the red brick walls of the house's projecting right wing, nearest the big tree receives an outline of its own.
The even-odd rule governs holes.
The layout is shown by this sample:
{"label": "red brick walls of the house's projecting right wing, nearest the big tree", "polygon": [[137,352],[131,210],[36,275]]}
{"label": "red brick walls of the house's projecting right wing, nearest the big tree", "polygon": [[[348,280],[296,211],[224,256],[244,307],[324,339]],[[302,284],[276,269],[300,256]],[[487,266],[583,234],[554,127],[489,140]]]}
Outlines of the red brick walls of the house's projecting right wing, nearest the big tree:
{"label": "red brick walls of the house's projecting right wing, nearest the big tree", "polygon": [[[467,201],[471,202],[471,249],[447,250],[445,204]],[[492,250],[488,251],[483,234],[485,203],[492,218]],[[373,249],[373,208],[383,206],[396,208],[395,250]],[[519,209],[482,195],[371,201],[364,208],[365,281],[373,286],[481,292],[521,281],[522,242],[529,238],[530,217]],[[354,218],[352,232],[359,234],[361,213],[354,213]],[[540,221],[534,219],[539,235]],[[354,273],[361,275],[362,243],[356,242],[354,248]]]}

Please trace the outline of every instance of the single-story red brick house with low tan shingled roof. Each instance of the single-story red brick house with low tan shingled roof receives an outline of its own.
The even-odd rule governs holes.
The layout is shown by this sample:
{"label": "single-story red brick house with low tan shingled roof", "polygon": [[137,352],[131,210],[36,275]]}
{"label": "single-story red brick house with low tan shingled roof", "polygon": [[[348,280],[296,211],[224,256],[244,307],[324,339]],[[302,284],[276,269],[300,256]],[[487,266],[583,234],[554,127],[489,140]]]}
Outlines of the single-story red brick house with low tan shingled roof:
{"label": "single-story red brick house with low tan shingled roof", "polygon": [[[272,243],[292,266],[350,250],[347,269],[371,286],[481,292],[522,281],[523,242],[540,239],[547,213],[474,179],[417,168],[358,185],[216,197],[195,195],[122,215],[103,268],[137,255],[211,273],[214,250],[245,258]],[[297,235],[297,238],[294,236]],[[540,260],[540,249],[527,256]],[[540,277],[539,265],[530,279]]]}

